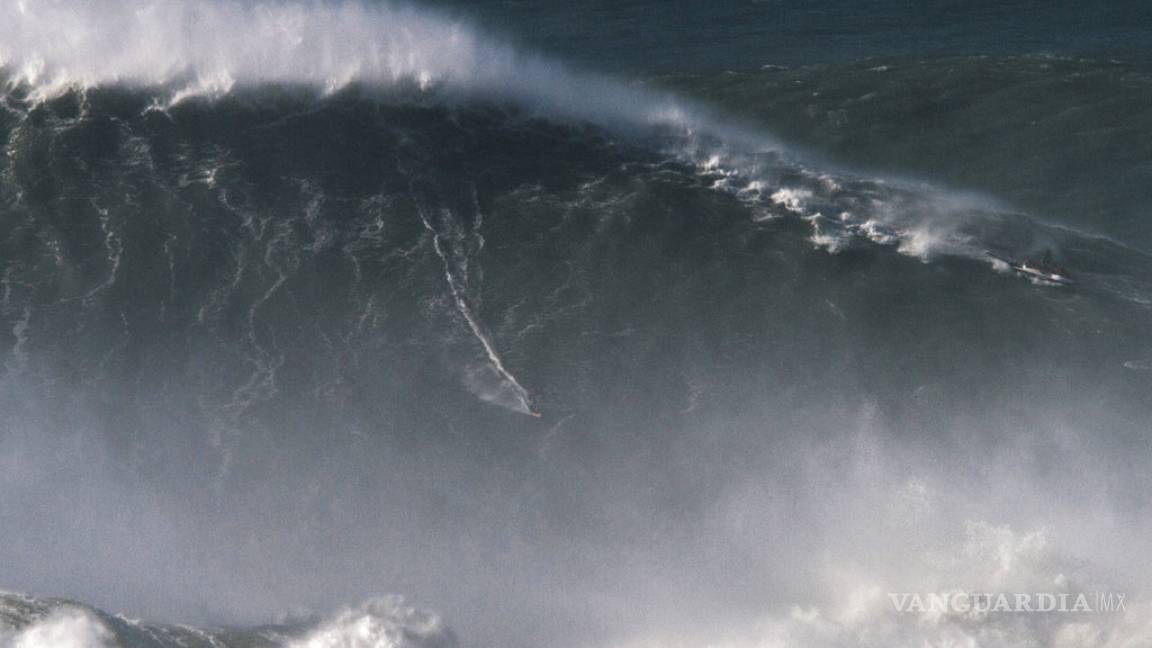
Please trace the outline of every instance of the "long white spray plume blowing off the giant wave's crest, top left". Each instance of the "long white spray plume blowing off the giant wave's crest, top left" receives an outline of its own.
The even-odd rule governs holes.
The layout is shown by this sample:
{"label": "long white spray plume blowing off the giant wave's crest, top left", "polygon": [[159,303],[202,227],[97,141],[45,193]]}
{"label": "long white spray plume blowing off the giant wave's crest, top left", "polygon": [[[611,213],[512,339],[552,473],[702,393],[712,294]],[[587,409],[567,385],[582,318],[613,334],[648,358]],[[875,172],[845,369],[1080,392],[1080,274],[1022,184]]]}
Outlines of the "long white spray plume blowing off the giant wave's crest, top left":
{"label": "long white spray plume blowing off the giant wave's crest, top left", "polygon": [[691,121],[665,96],[569,70],[458,21],[387,1],[7,1],[0,66],[40,98],[108,84],[167,88],[179,101],[262,84],[331,92],[410,83],[585,119]]}

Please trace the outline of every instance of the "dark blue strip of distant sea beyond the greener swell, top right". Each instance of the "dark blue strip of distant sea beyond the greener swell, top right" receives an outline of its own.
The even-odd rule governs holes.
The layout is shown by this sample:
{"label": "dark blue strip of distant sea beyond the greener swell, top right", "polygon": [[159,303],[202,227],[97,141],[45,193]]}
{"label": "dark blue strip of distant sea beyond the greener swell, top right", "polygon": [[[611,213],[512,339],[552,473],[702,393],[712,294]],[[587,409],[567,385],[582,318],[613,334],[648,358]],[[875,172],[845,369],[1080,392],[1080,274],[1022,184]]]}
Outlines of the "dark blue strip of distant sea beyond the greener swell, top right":
{"label": "dark blue strip of distant sea beyond the greener swell, top right", "polygon": [[674,74],[872,58],[1149,60],[1146,2],[1037,0],[440,1],[493,31],[609,73]]}

